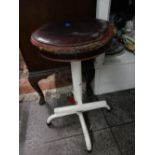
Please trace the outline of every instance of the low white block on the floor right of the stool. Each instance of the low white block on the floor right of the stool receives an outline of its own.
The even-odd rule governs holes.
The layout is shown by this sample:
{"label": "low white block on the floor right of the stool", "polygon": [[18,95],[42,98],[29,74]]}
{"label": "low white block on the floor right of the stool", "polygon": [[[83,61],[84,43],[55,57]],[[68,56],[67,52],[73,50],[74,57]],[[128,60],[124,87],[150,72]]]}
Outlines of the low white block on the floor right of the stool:
{"label": "low white block on the floor right of the stool", "polygon": [[135,56],[125,52],[106,57],[104,64],[95,69],[94,94],[104,94],[135,87]]}

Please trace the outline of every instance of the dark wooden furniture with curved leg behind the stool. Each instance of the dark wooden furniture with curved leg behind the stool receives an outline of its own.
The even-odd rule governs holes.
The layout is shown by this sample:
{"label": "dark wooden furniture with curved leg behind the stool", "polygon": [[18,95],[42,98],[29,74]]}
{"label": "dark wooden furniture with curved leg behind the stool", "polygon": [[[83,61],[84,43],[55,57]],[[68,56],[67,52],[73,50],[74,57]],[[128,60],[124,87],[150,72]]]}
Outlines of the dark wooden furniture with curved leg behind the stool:
{"label": "dark wooden furniture with curved leg behind the stool", "polygon": [[[38,81],[52,74],[53,68],[62,67],[68,63],[51,62],[36,55],[38,49],[30,43],[32,32],[40,25],[53,20],[94,18],[96,0],[20,0],[19,4],[20,50],[29,70],[29,82],[39,93],[40,104],[43,104],[44,95]],[[93,67],[92,64],[89,66]]]}

